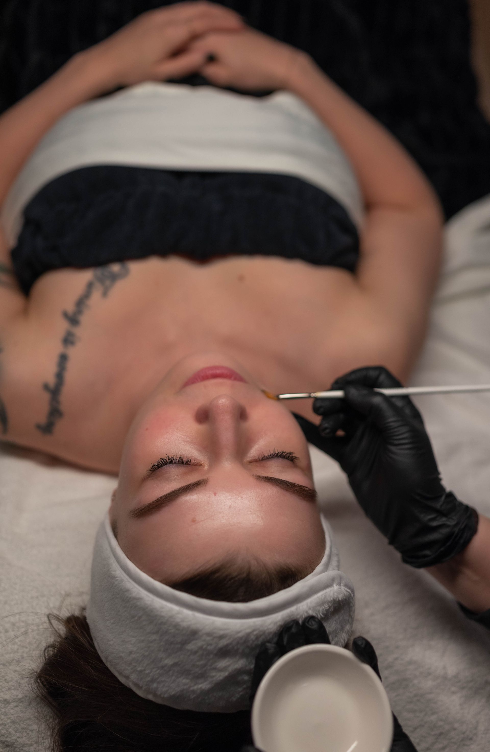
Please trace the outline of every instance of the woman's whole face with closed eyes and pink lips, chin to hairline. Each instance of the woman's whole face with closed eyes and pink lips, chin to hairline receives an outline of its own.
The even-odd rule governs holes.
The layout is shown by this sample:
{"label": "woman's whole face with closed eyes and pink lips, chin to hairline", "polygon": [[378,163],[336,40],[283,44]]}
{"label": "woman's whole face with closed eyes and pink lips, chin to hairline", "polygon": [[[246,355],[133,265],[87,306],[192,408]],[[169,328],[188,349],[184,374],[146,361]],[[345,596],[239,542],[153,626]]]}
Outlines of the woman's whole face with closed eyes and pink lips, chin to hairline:
{"label": "woman's whole face with closed eyes and pink lips, chin to hairline", "polygon": [[230,558],[313,569],[325,550],[298,423],[216,353],[177,362],[141,407],[110,520],[126,556],[167,584]]}

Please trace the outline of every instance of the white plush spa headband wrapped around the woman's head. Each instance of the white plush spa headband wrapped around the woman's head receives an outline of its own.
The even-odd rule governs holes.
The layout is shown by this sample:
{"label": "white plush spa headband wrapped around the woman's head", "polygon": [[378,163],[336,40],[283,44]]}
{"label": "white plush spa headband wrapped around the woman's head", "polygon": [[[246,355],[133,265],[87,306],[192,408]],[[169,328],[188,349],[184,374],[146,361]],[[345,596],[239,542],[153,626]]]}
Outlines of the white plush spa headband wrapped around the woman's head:
{"label": "white plush spa headband wrapped around the woman's head", "polygon": [[108,516],[98,529],[87,620],[101,659],[141,697],[180,708],[232,712],[250,707],[253,663],[262,642],[291,619],[314,614],[343,646],[354,618],[352,583],[338,571],[328,523],[319,566],[286,590],[248,603],[173,590],[122,552]]}

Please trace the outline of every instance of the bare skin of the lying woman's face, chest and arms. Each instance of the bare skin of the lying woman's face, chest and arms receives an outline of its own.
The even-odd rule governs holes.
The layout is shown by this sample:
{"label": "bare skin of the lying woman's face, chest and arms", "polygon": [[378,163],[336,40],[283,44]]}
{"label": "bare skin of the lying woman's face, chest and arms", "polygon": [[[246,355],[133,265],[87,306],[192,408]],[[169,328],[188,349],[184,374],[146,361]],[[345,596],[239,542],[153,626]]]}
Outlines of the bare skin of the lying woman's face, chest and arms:
{"label": "bare skin of the lying woman's face, chest and arms", "polygon": [[[274,472],[311,483],[304,439],[287,409],[252,384],[273,393],[313,391],[378,363],[407,377],[425,333],[442,222],[431,187],[400,144],[304,53],[247,29],[221,6],[181,3],[144,14],[75,56],[0,118],[0,201],[39,139],[69,109],[116,86],[192,71],[245,91],[287,89],[331,129],[364,196],[356,274],[280,257],[205,264],[150,257],[51,271],[26,299],[0,238],[0,434],[119,473],[111,511],[119,540],[152,576],[183,575],[238,549],[271,561],[284,561],[287,552],[289,562],[314,565],[323,545],[317,514],[304,500],[260,484],[250,462],[262,444],[264,451],[293,451],[299,464],[276,460],[281,466]],[[214,353],[213,362],[201,362],[203,353],[204,360]],[[192,399],[189,390],[183,402],[178,384],[168,387],[169,374],[179,363],[198,361],[198,368],[237,364],[250,374],[249,387],[208,384]],[[313,418],[306,401],[288,407]],[[199,410],[210,416],[205,429]],[[231,414],[234,439],[224,441]],[[183,425],[186,435],[177,431]],[[225,453],[231,444],[232,457]],[[162,453],[191,450],[202,466],[161,468],[138,485]],[[128,520],[131,505],[150,490],[159,493],[174,477],[178,485],[180,475],[200,477],[203,468],[210,477],[205,488],[147,520]]]}

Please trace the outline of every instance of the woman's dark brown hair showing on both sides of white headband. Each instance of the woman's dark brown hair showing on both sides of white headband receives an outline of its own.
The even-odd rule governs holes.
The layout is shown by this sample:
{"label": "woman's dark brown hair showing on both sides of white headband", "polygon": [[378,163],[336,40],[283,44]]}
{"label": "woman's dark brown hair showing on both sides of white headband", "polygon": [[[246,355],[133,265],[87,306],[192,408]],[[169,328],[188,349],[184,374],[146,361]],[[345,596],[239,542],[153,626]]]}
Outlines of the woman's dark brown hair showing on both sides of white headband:
{"label": "woman's dark brown hair showing on both sides of white headband", "polygon": [[[306,574],[288,567],[270,572],[253,562],[241,573],[236,565],[220,566],[173,587],[244,602],[289,587]],[[250,711],[198,713],[144,699],[107,669],[83,611],[48,618],[55,636],[44,649],[34,684],[54,714],[53,752],[237,752],[250,741]]]}

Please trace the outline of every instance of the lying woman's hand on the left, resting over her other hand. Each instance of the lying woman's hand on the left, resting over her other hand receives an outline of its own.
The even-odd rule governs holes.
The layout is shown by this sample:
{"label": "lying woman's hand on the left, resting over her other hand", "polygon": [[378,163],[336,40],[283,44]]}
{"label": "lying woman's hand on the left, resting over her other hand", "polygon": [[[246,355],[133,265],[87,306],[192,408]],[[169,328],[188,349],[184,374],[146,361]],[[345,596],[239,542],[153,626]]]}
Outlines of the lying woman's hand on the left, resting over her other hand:
{"label": "lying woman's hand on the left, resting over her other hand", "polygon": [[104,89],[181,78],[201,68],[204,50],[189,44],[209,32],[243,29],[241,17],[212,2],[179,2],[147,11],[80,56],[90,61]]}

